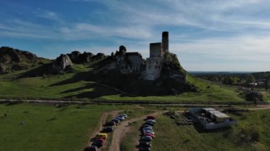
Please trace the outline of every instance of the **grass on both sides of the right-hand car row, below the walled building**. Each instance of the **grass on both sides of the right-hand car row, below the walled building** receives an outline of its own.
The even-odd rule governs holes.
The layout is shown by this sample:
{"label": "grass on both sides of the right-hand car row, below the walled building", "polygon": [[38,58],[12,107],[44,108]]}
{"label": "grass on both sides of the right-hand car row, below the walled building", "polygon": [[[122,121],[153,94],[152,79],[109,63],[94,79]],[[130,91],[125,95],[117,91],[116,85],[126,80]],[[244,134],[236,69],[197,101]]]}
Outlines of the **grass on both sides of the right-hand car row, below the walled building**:
{"label": "grass on both sides of the right-hand car row, below the walled building", "polygon": [[[158,116],[154,126],[157,137],[151,150],[270,150],[269,110],[229,115],[239,124],[212,132],[198,130],[193,125],[178,126],[168,116]],[[126,135],[122,147],[134,150],[134,140],[139,139],[139,131],[136,130],[139,125],[134,125],[134,130]]]}

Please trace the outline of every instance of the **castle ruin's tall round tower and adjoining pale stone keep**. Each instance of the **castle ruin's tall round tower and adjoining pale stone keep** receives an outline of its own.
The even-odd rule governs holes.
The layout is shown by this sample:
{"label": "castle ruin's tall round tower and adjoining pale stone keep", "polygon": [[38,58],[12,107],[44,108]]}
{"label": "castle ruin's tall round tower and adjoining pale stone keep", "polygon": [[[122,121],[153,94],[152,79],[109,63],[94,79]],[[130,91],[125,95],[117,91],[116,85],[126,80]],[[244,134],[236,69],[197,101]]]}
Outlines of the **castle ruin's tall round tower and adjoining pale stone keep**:
{"label": "castle ruin's tall round tower and adjoining pale stone keep", "polygon": [[163,55],[168,52],[168,31],[162,33],[162,43],[150,43],[150,57],[146,58],[144,79],[155,80],[161,75]]}

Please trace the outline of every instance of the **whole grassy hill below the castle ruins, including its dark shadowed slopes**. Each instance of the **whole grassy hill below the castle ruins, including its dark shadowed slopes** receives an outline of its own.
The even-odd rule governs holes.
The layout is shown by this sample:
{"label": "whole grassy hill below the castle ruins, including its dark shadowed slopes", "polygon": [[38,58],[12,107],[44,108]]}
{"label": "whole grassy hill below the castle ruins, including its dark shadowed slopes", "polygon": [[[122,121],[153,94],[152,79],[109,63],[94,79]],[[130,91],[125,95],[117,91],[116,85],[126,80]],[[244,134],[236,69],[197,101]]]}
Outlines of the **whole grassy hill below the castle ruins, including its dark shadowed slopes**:
{"label": "whole grassy hill below the castle ruins, including its dark shadowed slopes", "polygon": [[[31,54],[30,52],[9,49],[21,58],[17,63],[23,65],[23,62],[26,62],[27,67],[0,74],[1,99],[84,99],[193,104],[245,102],[244,96],[233,87],[213,84],[188,74],[180,66],[177,56],[171,53],[165,54],[161,78],[151,82],[140,79],[140,72],[119,74],[117,68],[95,74],[97,69],[100,71],[102,67],[114,62],[113,56],[104,56],[101,53],[92,55],[90,52],[72,52],[68,54],[72,62],[76,56],[87,60],[80,64],[69,62],[68,65],[72,65],[72,68],[68,72],[63,70],[59,74],[47,74],[45,71],[52,67],[55,61],[45,60],[33,54],[29,55],[32,56],[31,59],[27,59],[21,57],[25,56],[21,54]],[[14,57],[10,56],[9,60],[12,60]],[[4,57],[1,58],[4,60]],[[13,65],[13,62],[9,61],[6,65]],[[36,62],[43,63],[39,65]],[[63,65],[63,62],[60,62],[60,65]],[[173,77],[172,74],[177,74],[178,77]]]}

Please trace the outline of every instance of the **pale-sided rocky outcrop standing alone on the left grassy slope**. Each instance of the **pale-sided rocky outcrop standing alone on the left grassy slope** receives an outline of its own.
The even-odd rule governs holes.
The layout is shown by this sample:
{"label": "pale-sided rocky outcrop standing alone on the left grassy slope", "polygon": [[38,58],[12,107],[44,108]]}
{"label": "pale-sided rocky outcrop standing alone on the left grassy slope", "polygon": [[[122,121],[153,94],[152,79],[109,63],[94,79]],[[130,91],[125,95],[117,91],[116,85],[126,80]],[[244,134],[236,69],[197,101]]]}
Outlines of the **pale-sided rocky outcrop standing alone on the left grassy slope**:
{"label": "pale-sided rocky outcrop standing alone on the left grassy slope", "polygon": [[65,71],[69,71],[72,69],[72,62],[68,55],[61,54],[56,58],[55,62],[51,64],[51,68],[49,68],[49,73],[58,74],[63,73]]}

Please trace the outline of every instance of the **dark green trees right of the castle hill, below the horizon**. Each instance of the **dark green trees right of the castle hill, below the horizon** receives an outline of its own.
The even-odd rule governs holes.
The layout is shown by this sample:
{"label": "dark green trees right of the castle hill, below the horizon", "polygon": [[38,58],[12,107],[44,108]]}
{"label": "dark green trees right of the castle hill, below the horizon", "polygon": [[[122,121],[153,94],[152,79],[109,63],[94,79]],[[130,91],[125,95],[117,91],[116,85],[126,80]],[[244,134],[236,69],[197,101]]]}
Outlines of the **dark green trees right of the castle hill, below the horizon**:
{"label": "dark green trees right of the castle hill, below the horizon", "polygon": [[251,74],[197,74],[196,77],[232,86],[270,89],[270,72],[256,72]]}

